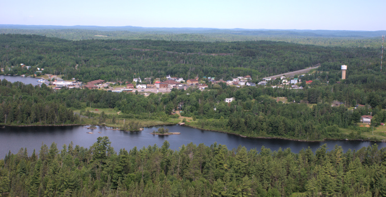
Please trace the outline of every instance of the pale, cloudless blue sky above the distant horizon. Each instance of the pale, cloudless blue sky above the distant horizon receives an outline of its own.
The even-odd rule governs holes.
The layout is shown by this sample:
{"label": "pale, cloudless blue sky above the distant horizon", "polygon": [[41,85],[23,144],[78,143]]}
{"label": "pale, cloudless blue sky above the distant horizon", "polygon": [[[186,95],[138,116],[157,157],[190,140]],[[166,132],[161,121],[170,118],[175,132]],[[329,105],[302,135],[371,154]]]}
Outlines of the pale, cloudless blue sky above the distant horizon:
{"label": "pale, cloudless blue sky above the distant horizon", "polygon": [[386,30],[386,0],[4,0],[0,24]]}

